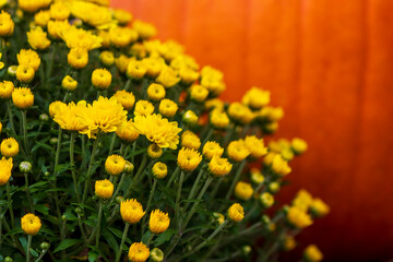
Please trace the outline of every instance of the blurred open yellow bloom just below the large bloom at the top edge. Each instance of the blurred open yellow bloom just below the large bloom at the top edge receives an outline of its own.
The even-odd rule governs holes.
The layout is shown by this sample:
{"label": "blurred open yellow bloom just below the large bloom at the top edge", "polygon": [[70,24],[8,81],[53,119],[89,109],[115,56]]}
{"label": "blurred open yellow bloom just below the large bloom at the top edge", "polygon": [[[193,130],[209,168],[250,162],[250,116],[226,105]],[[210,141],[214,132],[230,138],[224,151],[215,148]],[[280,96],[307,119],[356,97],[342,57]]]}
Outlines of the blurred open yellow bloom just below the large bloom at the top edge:
{"label": "blurred open yellow bloom just below the large bloom at the top edge", "polygon": [[[92,12],[91,10],[87,10]],[[72,25],[70,28],[64,29],[60,34],[61,39],[66,41],[68,48],[82,48],[87,51],[99,48],[102,46],[103,38],[93,35],[91,32],[76,28]]]}

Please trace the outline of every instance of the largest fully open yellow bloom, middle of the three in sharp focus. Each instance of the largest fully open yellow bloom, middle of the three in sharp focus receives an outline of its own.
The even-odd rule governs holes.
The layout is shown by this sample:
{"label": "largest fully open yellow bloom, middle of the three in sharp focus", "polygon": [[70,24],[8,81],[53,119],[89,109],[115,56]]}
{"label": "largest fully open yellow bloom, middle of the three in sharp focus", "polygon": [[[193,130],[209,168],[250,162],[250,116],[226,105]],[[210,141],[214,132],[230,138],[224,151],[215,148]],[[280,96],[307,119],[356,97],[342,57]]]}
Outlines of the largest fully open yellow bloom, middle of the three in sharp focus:
{"label": "largest fully open yellow bloom, middle of the three in sharp focus", "polygon": [[127,111],[115,97],[108,99],[99,96],[93,105],[88,104],[87,107],[81,109],[79,116],[86,126],[80,133],[86,134],[90,139],[95,139],[99,130],[106,133],[115,132],[127,121]]}

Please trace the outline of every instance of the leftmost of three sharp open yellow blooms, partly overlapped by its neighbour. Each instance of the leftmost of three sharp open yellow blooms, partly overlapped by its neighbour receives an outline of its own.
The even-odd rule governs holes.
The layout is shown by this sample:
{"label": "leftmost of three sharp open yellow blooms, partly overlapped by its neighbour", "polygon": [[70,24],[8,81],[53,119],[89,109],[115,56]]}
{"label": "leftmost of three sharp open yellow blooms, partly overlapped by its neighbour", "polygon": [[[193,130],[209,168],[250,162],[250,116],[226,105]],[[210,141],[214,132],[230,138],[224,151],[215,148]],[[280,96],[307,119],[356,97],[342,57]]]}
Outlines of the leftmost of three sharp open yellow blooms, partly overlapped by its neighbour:
{"label": "leftmost of three sharp open yellow blooms, partly overlapped by its neighbour", "polygon": [[85,107],[85,102],[71,102],[67,106],[61,102],[55,102],[49,105],[49,115],[53,116],[53,121],[57,122],[61,129],[70,131],[81,131],[86,126],[79,117],[80,110]]}

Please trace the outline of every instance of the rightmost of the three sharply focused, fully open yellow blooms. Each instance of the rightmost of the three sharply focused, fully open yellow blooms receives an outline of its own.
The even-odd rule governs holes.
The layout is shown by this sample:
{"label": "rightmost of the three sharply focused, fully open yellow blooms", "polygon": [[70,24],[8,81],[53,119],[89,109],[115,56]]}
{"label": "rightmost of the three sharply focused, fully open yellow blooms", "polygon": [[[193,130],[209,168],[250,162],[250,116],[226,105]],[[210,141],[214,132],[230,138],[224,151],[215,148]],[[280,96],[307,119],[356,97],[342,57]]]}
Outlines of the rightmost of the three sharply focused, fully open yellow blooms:
{"label": "rightmost of the three sharply focused, fully open yellow blooms", "polygon": [[156,143],[159,147],[177,148],[179,144],[179,132],[177,122],[169,122],[160,115],[135,116],[134,126],[136,130],[147,140]]}

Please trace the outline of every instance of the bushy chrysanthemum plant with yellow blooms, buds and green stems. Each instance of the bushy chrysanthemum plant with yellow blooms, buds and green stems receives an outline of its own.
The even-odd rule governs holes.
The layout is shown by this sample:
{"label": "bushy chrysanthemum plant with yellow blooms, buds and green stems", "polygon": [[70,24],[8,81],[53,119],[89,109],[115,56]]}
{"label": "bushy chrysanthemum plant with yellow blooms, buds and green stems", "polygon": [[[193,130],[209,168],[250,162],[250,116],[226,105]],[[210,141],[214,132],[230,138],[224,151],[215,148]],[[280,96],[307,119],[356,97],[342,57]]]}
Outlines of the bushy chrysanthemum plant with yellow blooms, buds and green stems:
{"label": "bushy chrysanthemum plant with yellow blooms, buds and green stems", "polygon": [[330,212],[275,201],[308,145],[269,138],[269,91],[222,100],[223,72],[108,0],[0,7],[4,261],[270,261]]}

